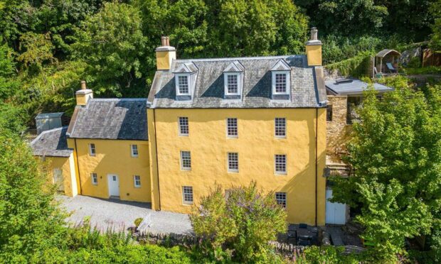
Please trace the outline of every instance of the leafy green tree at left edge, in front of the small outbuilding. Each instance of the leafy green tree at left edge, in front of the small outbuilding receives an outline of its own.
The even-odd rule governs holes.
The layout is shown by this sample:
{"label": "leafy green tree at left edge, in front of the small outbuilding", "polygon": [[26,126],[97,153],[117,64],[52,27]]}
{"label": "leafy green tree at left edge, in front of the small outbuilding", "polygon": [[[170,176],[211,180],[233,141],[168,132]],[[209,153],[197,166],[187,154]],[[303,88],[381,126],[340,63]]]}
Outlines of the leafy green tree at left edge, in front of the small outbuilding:
{"label": "leafy green tree at left edge, in front of the small outbuilding", "polygon": [[[0,262],[41,262],[63,241],[64,217],[53,202],[54,189],[27,143],[16,111],[0,107]],[[31,257],[32,256],[32,257]]]}

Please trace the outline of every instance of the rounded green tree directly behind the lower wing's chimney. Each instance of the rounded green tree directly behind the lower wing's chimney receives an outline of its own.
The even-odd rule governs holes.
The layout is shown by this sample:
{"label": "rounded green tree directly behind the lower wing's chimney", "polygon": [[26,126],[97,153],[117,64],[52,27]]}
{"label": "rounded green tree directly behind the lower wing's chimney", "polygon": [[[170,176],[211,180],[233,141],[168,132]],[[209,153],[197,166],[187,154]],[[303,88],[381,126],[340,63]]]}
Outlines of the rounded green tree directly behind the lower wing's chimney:
{"label": "rounded green tree directly behind the lower wing's chimney", "polygon": [[97,94],[122,96],[144,77],[146,41],[138,9],[118,2],[106,3],[86,18],[75,34],[75,56],[85,60],[87,79]]}

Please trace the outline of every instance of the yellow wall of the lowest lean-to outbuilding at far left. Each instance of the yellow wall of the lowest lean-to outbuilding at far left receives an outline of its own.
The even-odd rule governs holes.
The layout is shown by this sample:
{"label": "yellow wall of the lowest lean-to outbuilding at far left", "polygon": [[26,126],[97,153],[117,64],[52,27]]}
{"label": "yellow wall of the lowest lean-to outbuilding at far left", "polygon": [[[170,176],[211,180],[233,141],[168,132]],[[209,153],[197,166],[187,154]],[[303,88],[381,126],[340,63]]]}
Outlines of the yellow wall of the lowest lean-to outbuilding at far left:
{"label": "yellow wall of the lowest lean-to outbuilding at far left", "polygon": [[73,197],[76,195],[75,190],[73,191],[73,186],[75,182],[72,182],[73,167],[70,167],[71,157],[46,157],[46,164],[48,166],[48,177],[49,182],[53,183],[53,170],[60,169],[63,175],[63,185],[64,192],[66,195]]}

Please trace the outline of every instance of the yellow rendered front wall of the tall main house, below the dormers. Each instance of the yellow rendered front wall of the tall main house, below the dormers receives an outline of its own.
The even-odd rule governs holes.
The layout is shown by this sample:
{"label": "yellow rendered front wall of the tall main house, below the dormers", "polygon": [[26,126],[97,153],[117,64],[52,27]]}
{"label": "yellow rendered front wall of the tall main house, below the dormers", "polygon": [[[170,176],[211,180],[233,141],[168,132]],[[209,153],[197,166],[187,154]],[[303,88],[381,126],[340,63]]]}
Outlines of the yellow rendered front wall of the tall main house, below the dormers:
{"label": "yellow rendered front wall of the tall main house, below the dormers", "polygon": [[[289,223],[315,224],[316,109],[154,109],[161,210],[189,213],[182,186],[192,186],[194,204],[216,187],[249,185],[287,192]],[[149,122],[152,122],[149,110]],[[319,109],[317,224],[324,224],[326,110]],[[189,136],[178,135],[187,116]],[[238,118],[238,138],[226,136],[225,120]],[[287,138],[275,138],[274,119],[287,119]],[[149,123],[149,138],[154,131]],[[191,170],[181,170],[180,150],[191,151]],[[227,153],[239,155],[239,172],[228,172]],[[287,175],[275,175],[274,155],[287,154]]]}

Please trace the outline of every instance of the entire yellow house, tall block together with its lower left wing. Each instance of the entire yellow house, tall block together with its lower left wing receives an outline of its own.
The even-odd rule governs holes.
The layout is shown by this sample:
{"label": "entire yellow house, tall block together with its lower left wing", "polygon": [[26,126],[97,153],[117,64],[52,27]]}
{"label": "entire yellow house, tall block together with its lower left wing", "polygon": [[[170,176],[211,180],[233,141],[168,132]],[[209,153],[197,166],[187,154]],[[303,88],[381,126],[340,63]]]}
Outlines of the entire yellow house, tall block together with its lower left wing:
{"label": "entire yellow house, tall block together with its lower left wing", "polygon": [[161,43],[148,99],[94,99],[82,82],[72,121],[59,129],[64,136],[42,134],[65,142],[66,156],[53,162],[65,193],[188,213],[217,185],[228,192],[255,181],[275,192],[289,223],[324,225],[326,90],[317,30],[306,56],[176,60],[169,39]]}

